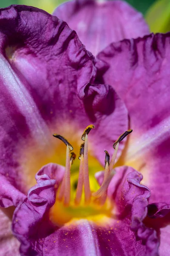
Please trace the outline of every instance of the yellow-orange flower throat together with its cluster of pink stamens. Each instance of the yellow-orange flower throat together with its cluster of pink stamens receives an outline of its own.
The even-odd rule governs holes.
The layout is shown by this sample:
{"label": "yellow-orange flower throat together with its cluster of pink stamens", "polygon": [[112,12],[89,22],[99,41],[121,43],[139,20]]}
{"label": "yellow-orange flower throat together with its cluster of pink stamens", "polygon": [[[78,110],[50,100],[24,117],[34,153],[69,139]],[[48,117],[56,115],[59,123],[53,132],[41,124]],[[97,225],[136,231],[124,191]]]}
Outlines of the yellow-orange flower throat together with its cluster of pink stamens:
{"label": "yellow-orange flower throat together with its cluster of pink stamens", "polygon": [[[125,131],[113,144],[114,153],[111,162],[109,153],[105,150],[104,178],[102,185],[95,192],[95,188],[93,187],[94,181],[93,179],[89,179],[88,169],[88,134],[91,129],[94,129],[94,125],[88,125],[82,134],[83,143],[80,145],[79,150],[79,176],[78,180],[76,182],[74,181],[74,186],[71,186],[71,166],[76,158],[76,154],[73,152],[73,146],[61,135],[53,134],[54,137],[66,145],[65,175],[57,190],[56,203],[50,212],[51,221],[56,222],[58,225],[65,224],[75,218],[90,218],[94,220],[103,216],[111,217],[113,204],[111,204],[110,199],[107,197],[107,189],[114,174],[113,166],[119,143],[132,130]],[[75,189],[75,192],[72,191],[72,188]]]}

